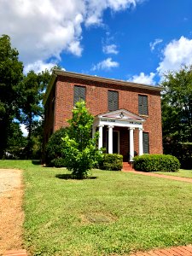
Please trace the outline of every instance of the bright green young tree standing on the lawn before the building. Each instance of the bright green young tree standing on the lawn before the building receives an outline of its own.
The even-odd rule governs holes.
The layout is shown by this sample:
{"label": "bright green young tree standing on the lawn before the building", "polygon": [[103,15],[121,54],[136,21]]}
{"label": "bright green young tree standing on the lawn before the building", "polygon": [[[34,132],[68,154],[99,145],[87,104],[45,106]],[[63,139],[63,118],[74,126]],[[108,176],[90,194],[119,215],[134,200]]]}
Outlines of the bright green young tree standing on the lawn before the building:
{"label": "bright green young tree standing on the lawn before the building", "polygon": [[73,118],[68,123],[67,136],[63,138],[67,169],[72,172],[73,177],[84,178],[100,156],[100,151],[96,148],[98,133],[91,138],[93,116],[85,107],[84,101],[75,104]]}

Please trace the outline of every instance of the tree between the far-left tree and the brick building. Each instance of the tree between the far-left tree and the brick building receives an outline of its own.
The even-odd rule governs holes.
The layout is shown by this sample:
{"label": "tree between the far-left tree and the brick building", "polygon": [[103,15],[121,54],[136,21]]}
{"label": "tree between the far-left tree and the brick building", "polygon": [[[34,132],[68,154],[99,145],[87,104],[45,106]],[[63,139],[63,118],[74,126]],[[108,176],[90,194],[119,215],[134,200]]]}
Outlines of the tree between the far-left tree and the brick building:
{"label": "tree between the far-left tree and the brick building", "polygon": [[[26,130],[28,131],[26,145],[27,159],[32,157],[34,143],[38,143],[37,137],[32,137],[32,135],[36,133],[37,136],[37,131],[43,133],[41,124],[42,120],[44,120],[44,108],[41,102],[44,96],[44,90],[49,83],[49,78],[50,74],[48,70],[38,74],[30,71],[24,76],[20,86],[20,122],[26,125]],[[40,134],[38,134],[38,138],[42,140]],[[37,151],[37,148],[35,150]]]}

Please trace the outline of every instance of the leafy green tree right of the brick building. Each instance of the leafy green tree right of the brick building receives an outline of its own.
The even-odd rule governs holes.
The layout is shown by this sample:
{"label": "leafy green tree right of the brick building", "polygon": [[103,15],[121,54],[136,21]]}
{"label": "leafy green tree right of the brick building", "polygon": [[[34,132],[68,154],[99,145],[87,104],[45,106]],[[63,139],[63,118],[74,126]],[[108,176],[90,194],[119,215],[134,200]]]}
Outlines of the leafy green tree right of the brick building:
{"label": "leafy green tree right of the brick building", "polygon": [[161,85],[164,137],[192,142],[192,66],[166,73]]}

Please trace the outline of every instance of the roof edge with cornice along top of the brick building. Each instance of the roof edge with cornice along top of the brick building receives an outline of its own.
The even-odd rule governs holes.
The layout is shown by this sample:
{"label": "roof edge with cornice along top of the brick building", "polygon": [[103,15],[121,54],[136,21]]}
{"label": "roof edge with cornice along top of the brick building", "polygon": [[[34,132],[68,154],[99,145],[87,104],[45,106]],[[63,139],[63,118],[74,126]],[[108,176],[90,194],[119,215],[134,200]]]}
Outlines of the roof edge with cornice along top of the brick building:
{"label": "roof edge with cornice along top of the brick building", "polygon": [[160,87],[159,85],[154,86],[154,85],[147,85],[147,84],[138,84],[138,83],[124,81],[124,80],[106,79],[106,78],[91,76],[91,75],[82,74],[82,73],[73,73],[73,72],[62,71],[60,69],[54,69],[51,74],[50,80],[49,80],[48,88],[44,95],[44,101],[43,101],[44,105],[47,102],[50,90],[52,89],[53,85],[55,84],[55,80],[56,80],[57,76],[76,78],[76,79],[84,79],[84,80],[88,80],[88,81],[101,82],[101,83],[105,83],[105,84],[118,84],[118,85],[124,85],[124,86],[132,87],[132,88],[141,88],[141,89],[158,90],[158,91],[162,90],[162,87]]}

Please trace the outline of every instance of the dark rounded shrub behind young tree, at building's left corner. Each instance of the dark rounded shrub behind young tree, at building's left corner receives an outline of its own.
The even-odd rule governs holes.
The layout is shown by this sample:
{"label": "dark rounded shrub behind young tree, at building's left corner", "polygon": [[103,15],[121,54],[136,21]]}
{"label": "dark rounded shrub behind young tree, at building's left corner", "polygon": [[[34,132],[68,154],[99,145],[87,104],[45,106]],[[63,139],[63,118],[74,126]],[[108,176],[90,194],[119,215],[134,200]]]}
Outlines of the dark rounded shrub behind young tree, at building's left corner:
{"label": "dark rounded shrub behind young tree, at building's left corner", "polygon": [[[45,161],[48,166],[61,167],[66,166],[64,160],[63,148],[65,148],[65,143],[61,139],[67,134],[67,127],[61,128],[55,131],[46,145],[45,149]],[[60,163],[60,164],[59,164]]]}

